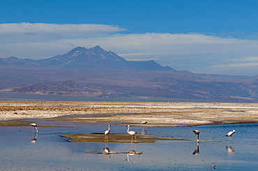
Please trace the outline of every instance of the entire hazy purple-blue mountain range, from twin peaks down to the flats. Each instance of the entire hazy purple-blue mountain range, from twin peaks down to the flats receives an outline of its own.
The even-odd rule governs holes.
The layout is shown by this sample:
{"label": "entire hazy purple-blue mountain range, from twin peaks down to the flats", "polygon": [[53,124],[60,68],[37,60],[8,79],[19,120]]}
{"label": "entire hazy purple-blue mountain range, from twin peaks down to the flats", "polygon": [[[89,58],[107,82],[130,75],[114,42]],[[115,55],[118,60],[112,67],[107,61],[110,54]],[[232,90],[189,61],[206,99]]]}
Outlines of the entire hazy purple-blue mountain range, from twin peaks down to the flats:
{"label": "entire hazy purple-blue mountain range, from twin peaks down to the flats", "polygon": [[258,76],[195,74],[99,46],[41,60],[0,58],[0,91],[82,97],[258,102]]}

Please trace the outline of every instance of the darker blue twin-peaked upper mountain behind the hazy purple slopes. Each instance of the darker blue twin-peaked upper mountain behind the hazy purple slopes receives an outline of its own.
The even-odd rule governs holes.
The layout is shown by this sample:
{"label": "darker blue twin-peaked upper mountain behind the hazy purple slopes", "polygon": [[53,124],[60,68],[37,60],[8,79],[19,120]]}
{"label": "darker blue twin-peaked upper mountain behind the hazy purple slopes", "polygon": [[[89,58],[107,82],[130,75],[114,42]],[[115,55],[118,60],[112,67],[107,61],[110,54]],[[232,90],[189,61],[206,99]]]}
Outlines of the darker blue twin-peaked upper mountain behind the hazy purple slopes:
{"label": "darker blue twin-peaked upper mountain behind the hazy purple slopes", "polygon": [[0,58],[0,65],[26,65],[54,68],[110,68],[116,70],[174,70],[171,67],[162,67],[154,60],[128,61],[112,51],[105,51],[99,46],[86,49],[76,47],[67,54],[57,55],[52,58],[32,60],[16,57]]}

